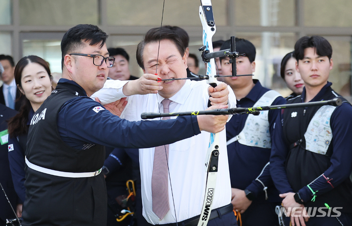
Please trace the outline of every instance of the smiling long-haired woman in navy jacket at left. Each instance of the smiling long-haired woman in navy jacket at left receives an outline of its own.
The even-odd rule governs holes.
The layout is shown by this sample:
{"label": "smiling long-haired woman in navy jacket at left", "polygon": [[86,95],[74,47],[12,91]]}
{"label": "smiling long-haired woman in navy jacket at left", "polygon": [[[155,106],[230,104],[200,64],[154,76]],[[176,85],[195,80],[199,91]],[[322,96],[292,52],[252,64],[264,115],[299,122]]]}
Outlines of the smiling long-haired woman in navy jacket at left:
{"label": "smiling long-haired woman in navy jacket at left", "polygon": [[[12,180],[21,203],[24,202],[24,153],[30,119],[51,93],[52,76],[47,63],[38,56],[23,57],[15,68],[15,80],[25,96],[18,114],[8,123],[8,158]],[[20,211],[20,210],[19,210]],[[21,211],[20,211],[21,213]],[[21,216],[21,215],[20,215]]]}

